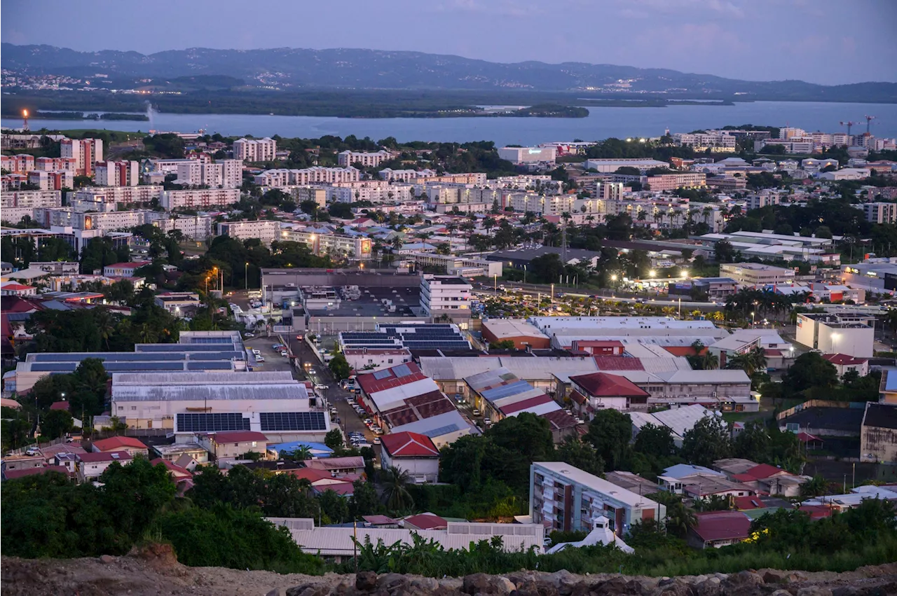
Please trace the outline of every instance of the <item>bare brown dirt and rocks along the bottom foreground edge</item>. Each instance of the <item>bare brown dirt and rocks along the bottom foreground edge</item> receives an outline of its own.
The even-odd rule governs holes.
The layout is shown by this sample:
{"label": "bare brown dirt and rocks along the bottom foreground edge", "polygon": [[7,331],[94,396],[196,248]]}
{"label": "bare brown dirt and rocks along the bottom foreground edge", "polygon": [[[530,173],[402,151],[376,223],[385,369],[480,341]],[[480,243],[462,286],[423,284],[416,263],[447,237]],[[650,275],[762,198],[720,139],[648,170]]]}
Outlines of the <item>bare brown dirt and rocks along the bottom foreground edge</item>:
{"label": "bare brown dirt and rocks along the bottom foreground edge", "polygon": [[897,594],[897,564],[844,574],[760,569],[737,574],[640,577],[519,571],[433,579],[401,574],[312,577],[180,565],[170,548],[128,557],[0,557],[0,596],[884,596]]}

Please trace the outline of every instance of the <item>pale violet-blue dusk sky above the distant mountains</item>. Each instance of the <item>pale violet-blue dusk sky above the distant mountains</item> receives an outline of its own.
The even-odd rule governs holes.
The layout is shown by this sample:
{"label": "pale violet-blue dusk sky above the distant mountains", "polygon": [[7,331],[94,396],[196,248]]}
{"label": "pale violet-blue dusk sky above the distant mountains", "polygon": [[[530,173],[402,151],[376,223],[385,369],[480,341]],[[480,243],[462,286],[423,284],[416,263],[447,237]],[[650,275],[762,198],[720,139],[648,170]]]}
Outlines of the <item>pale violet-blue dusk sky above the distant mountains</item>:
{"label": "pale violet-blue dusk sky above the distant mountains", "polygon": [[0,41],[82,51],[371,48],[897,82],[897,0],[0,0],[0,15]]}

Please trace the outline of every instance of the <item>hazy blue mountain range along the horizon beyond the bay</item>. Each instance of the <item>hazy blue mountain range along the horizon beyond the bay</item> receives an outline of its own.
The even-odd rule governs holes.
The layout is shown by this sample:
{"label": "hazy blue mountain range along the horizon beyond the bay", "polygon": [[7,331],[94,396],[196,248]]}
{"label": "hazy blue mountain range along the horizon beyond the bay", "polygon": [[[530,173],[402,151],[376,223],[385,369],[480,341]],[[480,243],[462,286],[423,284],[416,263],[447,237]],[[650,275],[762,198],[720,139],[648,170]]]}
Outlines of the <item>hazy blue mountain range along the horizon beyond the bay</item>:
{"label": "hazy blue mountain range along the horizon beyond the bay", "polygon": [[[461,56],[371,49],[190,48],[144,55],[103,50],[0,43],[0,68],[25,74],[88,77],[117,84],[200,75],[227,75],[249,87],[446,91],[552,91],[626,97],[811,101],[897,101],[897,83],[817,85],[802,81],[753,82],[659,68],[581,62],[501,64]],[[235,79],[236,80],[236,79]]]}

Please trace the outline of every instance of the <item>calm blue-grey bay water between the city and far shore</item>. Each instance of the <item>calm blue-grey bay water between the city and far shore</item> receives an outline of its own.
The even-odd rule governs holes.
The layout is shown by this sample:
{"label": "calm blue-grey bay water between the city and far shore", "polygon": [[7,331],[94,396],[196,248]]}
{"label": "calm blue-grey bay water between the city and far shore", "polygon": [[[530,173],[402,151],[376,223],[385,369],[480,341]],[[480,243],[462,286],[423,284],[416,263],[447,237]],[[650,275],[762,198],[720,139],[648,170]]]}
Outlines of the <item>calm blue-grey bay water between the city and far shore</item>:
{"label": "calm blue-grey bay water between the city and far shore", "polygon": [[[897,137],[897,104],[754,101],[720,106],[668,106],[666,108],[588,107],[585,118],[340,118],[265,116],[245,114],[166,114],[149,112],[150,121],[97,121],[31,119],[31,130],[107,128],[119,131],[318,138],[326,134],[379,140],[396,137],[407,141],[493,141],[497,145],[597,141],[608,137],[660,136],[725,125],[797,126],[806,131],[845,131],[841,122],[853,121],[854,134],[866,131],[866,116],[874,116],[870,131],[877,137]],[[0,127],[19,127],[21,120],[4,118]]]}

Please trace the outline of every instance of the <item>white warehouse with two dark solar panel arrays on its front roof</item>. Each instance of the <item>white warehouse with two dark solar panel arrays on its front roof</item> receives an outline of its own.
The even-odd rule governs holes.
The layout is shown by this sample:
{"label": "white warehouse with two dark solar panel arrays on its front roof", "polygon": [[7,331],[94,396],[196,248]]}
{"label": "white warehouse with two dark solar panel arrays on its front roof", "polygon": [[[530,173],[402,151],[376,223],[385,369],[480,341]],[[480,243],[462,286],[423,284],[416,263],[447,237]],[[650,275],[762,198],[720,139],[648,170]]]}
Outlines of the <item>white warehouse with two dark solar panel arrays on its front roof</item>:
{"label": "white warehouse with two dark solar panel arrays on its front roof", "polygon": [[161,428],[178,442],[197,433],[245,430],[272,443],[323,441],[330,420],[305,384],[271,373],[116,373],[113,415],[128,428]]}

